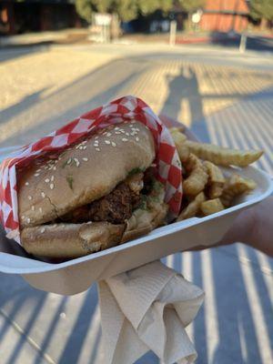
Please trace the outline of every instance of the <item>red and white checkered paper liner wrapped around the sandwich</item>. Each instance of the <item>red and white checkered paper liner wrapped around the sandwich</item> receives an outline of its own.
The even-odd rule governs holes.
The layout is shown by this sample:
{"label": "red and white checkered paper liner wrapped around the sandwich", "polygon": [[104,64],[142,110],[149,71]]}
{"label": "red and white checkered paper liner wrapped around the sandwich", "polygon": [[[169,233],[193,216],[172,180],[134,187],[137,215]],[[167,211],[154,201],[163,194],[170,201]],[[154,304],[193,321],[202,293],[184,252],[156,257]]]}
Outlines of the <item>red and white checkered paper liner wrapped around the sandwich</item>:
{"label": "red and white checkered paper liner wrapped around the sandwich", "polygon": [[50,152],[61,152],[98,128],[136,119],[152,132],[156,144],[157,178],[165,184],[170,218],[177,217],[182,199],[181,165],[167,127],[147,104],[134,96],[118,98],[77,117],[66,126],[18,149],[0,168],[0,217],[8,238],[20,244],[16,169]]}

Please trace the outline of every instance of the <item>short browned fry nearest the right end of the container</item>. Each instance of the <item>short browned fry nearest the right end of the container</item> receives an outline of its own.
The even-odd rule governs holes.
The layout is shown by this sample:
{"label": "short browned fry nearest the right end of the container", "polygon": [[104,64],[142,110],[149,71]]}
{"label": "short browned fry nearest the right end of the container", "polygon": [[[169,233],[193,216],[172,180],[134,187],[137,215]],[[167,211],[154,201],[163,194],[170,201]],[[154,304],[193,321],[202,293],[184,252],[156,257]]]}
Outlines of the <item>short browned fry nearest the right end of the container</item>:
{"label": "short browned fry nearest the right end of the container", "polygon": [[230,207],[235,197],[250,192],[256,186],[256,182],[253,179],[241,177],[237,173],[234,173],[228,178],[223,189],[221,196],[222,204],[225,207]]}

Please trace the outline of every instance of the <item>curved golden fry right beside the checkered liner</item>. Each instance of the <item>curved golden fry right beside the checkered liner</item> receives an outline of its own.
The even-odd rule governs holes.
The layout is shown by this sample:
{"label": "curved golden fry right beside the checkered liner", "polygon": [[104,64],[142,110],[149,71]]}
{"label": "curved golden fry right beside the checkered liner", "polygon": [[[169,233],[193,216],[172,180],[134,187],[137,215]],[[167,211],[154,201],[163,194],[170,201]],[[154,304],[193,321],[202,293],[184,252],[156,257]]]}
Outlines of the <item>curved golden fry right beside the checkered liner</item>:
{"label": "curved golden fry right beside the checkered liner", "polygon": [[184,161],[184,167],[188,177],[183,182],[183,191],[186,196],[197,196],[207,184],[207,170],[200,159],[193,154],[190,154]]}

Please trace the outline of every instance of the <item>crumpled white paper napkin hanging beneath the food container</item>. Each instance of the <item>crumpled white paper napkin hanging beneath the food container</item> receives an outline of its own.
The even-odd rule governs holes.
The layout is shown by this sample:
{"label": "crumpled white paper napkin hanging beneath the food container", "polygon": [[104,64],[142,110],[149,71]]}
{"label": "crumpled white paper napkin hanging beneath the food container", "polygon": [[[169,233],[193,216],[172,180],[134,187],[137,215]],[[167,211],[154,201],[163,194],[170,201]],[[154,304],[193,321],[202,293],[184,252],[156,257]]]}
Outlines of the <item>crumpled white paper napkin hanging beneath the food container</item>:
{"label": "crumpled white paper napkin hanging beneath the food container", "polygon": [[204,292],[159,261],[99,282],[105,364],[131,364],[153,350],[165,364],[197,352],[185,328]]}

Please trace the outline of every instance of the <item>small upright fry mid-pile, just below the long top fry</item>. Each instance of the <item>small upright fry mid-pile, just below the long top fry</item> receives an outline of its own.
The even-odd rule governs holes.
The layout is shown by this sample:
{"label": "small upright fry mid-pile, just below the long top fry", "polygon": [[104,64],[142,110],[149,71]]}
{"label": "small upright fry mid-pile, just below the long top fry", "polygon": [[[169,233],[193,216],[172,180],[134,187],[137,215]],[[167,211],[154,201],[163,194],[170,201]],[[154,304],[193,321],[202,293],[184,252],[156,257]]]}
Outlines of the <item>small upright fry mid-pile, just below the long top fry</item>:
{"label": "small upright fry mid-pile, just below the long top fry", "polygon": [[225,185],[225,177],[219,167],[214,165],[207,160],[203,163],[203,165],[207,168],[208,175],[208,197],[209,198],[217,198],[220,197]]}

